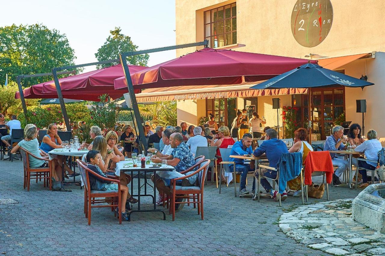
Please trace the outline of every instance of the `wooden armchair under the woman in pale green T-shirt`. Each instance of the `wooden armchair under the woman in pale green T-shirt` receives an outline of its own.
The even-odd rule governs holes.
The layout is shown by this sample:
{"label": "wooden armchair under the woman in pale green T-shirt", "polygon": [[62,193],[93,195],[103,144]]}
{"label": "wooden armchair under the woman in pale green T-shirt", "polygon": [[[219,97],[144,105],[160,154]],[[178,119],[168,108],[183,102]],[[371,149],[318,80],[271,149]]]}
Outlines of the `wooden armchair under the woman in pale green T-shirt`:
{"label": "wooden armchair under the woman in pale green T-shirt", "polygon": [[[41,158],[39,156],[33,155],[30,151],[26,150],[25,148],[20,147],[20,154],[22,155],[23,158],[23,165],[24,165],[24,185],[23,188],[25,189],[25,185],[27,184],[27,191],[29,191],[29,186],[30,186],[30,180],[35,179],[36,183],[38,179],[43,179],[44,181],[44,187],[45,183],[48,179],[48,186],[49,189],[52,189],[52,180],[51,180],[51,172],[54,171],[52,170],[52,161],[50,159],[45,159]],[[30,167],[29,166],[29,157],[48,161],[48,167],[44,168],[39,168],[39,167]]]}

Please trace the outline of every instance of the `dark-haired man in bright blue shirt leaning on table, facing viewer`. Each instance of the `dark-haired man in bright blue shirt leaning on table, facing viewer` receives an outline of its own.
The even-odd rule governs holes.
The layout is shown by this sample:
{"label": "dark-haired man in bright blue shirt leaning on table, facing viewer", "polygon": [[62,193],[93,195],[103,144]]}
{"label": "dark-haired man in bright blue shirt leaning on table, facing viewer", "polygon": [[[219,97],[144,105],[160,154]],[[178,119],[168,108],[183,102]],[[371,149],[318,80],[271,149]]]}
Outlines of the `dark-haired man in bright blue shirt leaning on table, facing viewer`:
{"label": "dark-haired man in bright blue shirt leaning on table, facing viewer", "polygon": [[[230,155],[251,155],[253,154],[253,149],[251,148],[251,143],[253,142],[253,136],[251,136],[250,133],[245,133],[242,137],[242,140],[237,141],[234,143],[233,147],[231,148]],[[254,170],[254,161],[251,161],[251,163],[245,163],[243,159],[239,158],[230,158],[231,162],[235,162],[235,170],[237,172],[241,172],[241,182],[239,184],[239,191],[241,191],[242,194],[249,194],[249,191],[246,190],[246,178],[247,173],[249,171]],[[254,189],[254,183],[253,183],[253,189]]]}

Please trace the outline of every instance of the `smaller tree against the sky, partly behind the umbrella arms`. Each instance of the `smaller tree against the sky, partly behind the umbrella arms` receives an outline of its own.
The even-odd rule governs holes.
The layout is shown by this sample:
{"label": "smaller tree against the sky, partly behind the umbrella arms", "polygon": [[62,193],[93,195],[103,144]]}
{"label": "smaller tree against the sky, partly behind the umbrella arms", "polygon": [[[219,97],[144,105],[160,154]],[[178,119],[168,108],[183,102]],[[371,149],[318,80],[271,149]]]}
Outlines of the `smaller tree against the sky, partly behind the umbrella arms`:
{"label": "smaller tree against the sky, partly behind the umbrella arms", "polygon": [[[137,50],[138,46],[132,43],[131,37],[121,33],[120,27],[115,27],[114,30],[110,30],[110,33],[111,35],[107,38],[107,41],[95,53],[95,57],[99,62],[119,58],[119,53],[122,52]],[[127,62],[131,65],[147,66],[148,58],[148,54],[135,55],[127,57]],[[110,65],[110,63],[97,65],[97,68],[104,68]]]}

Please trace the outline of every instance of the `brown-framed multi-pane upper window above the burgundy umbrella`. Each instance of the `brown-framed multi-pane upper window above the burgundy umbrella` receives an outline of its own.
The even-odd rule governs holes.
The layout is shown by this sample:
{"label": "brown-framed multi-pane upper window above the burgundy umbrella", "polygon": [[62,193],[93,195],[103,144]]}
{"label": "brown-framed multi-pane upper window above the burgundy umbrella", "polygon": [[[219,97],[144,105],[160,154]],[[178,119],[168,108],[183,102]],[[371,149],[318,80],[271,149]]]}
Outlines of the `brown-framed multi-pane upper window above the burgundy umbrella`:
{"label": "brown-framed multi-pane upper window above the burgundy umbrella", "polygon": [[236,3],[205,11],[204,39],[209,47],[217,48],[237,43]]}

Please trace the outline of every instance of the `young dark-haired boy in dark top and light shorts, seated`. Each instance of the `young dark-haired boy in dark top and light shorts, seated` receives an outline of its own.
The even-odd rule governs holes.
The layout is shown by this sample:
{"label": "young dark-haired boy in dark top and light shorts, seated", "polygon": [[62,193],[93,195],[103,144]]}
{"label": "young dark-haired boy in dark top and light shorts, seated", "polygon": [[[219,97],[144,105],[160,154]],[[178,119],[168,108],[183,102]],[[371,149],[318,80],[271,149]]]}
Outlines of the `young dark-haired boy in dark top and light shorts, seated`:
{"label": "young dark-haired boy in dark top and light shorts, seated", "polygon": [[[100,170],[98,164],[100,162],[100,159],[102,157],[99,154],[99,151],[97,150],[90,150],[87,153],[86,159],[87,159],[87,168],[90,170],[94,171],[95,173],[99,174],[100,176],[105,176],[105,174]],[[117,183],[113,183],[112,181],[105,181],[102,180],[92,174],[89,174],[89,179],[90,179],[90,186],[91,190],[101,190],[101,191],[106,191],[106,190],[118,190],[118,185]],[[122,212],[122,219],[128,221],[128,217],[126,214],[126,201],[127,201],[127,194],[128,194],[128,188],[127,186],[121,186],[121,212]],[[117,213],[119,213],[118,207],[115,209]]]}

